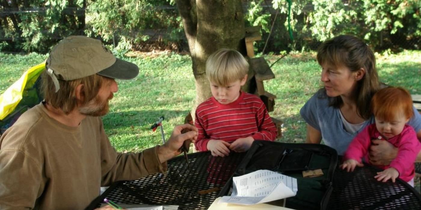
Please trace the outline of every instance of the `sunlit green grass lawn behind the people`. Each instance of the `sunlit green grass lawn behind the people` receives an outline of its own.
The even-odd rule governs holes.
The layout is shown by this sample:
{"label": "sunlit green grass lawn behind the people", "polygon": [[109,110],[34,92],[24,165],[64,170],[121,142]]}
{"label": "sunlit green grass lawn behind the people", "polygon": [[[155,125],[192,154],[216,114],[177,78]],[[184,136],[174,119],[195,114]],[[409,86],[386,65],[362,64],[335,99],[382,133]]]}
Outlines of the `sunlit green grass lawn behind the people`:
{"label": "sunlit green grass lawn behind the people", "polygon": [[[380,80],[421,92],[421,51],[397,55],[376,55]],[[269,64],[278,56],[265,56]],[[29,67],[43,62],[46,55],[6,55],[0,53],[0,94]],[[117,151],[140,151],[162,142],[159,130],[149,127],[165,116],[168,138],[174,125],[182,123],[194,105],[195,81],[188,55],[162,53],[150,57],[124,58],[140,67],[136,79],[118,81],[119,91],[110,102],[104,127]],[[291,54],[272,66],[276,78],[265,81],[265,89],[277,96],[272,117],[283,121],[280,142],[304,142],[306,123],[299,115],[306,100],[320,87],[320,67],[314,53]]]}

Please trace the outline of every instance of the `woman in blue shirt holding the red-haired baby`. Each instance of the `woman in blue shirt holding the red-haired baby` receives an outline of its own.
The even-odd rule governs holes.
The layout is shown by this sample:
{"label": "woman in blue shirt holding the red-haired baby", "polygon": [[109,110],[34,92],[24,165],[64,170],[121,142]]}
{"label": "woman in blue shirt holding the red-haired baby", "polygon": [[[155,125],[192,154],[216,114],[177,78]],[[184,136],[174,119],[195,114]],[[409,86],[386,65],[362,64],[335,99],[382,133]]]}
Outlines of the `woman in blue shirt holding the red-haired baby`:
{"label": "woman in blue shirt holding the red-haired baby", "polygon": [[[346,147],[368,124],[374,123],[370,112],[371,97],[381,88],[373,51],[361,39],[340,35],[325,41],[317,51],[322,67],[324,87],[301,108],[307,123],[307,143],[326,145],[343,155]],[[414,110],[408,121],[421,139],[421,115]],[[397,148],[387,141],[373,140],[370,163],[389,165],[396,157]],[[417,161],[421,160],[421,152]]]}

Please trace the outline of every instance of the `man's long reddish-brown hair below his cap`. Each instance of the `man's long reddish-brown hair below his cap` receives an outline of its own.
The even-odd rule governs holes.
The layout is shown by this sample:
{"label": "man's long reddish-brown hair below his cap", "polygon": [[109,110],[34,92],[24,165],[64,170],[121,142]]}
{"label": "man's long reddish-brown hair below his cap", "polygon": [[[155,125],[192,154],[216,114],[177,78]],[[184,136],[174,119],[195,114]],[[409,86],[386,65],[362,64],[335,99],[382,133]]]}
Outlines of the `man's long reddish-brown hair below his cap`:
{"label": "man's long reddish-brown hair below his cap", "polygon": [[41,79],[44,100],[54,108],[62,110],[66,115],[77,105],[75,91],[79,84],[83,84],[82,104],[86,104],[96,97],[103,82],[103,77],[97,74],[69,81],[59,80],[60,89],[56,92],[53,80],[46,71],[41,74]]}

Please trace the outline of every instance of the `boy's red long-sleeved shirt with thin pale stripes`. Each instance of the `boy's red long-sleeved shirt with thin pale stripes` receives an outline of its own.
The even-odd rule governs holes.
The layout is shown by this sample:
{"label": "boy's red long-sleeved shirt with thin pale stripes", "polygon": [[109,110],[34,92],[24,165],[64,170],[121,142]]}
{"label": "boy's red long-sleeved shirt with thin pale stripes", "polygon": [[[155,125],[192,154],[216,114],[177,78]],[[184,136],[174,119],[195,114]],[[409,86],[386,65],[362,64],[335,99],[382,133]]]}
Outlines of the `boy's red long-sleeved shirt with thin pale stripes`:
{"label": "boy's red long-sleeved shirt with thin pale stripes", "polygon": [[199,129],[196,150],[206,151],[210,139],[234,142],[248,136],[274,141],[277,129],[266,106],[256,95],[241,92],[237,100],[221,104],[214,97],[196,109],[195,126]]}

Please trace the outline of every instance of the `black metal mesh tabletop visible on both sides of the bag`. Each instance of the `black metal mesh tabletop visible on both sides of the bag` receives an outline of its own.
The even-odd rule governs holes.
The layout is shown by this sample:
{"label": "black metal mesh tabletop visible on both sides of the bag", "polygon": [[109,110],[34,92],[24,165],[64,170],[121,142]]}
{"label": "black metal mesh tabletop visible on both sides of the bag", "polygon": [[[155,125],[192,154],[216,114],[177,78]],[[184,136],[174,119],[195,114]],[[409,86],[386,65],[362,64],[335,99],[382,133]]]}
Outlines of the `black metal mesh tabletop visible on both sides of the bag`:
{"label": "black metal mesh tabletop visible on both sides of the bag", "polygon": [[[179,205],[179,210],[206,210],[219,191],[200,191],[222,189],[244,155],[232,152],[228,157],[213,157],[210,152],[192,153],[188,155],[191,170],[183,156],[175,157],[168,161],[166,174],[116,182],[87,209],[99,207],[107,197],[117,204]],[[370,165],[352,173],[336,168],[328,209],[421,209],[421,196],[415,189],[401,180],[378,182],[373,178],[377,171],[380,170]]]}

